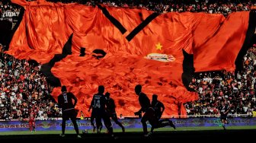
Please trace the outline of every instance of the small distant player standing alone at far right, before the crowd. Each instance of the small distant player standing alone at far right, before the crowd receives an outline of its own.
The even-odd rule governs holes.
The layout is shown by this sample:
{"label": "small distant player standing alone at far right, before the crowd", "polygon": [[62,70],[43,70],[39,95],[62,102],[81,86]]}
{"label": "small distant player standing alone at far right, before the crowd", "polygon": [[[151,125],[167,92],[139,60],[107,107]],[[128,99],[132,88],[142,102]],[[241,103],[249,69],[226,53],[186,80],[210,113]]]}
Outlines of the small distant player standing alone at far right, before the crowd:
{"label": "small distant player standing alone at far right, before the crowd", "polygon": [[228,123],[228,113],[229,113],[229,105],[225,103],[226,100],[222,100],[221,105],[219,106],[220,120],[222,122],[223,129],[226,129],[225,124]]}

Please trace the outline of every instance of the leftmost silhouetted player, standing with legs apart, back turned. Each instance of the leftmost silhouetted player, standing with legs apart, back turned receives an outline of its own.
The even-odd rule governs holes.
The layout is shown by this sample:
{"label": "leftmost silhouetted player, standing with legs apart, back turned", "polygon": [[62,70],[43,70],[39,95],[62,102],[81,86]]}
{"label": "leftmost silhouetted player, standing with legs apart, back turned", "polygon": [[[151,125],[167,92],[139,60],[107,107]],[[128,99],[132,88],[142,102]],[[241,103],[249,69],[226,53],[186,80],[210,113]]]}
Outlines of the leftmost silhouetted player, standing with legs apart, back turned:
{"label": "leftmost silhouetted player, standing with legs apart, back turned", "polygon": [[[78,125],[76,123],[76,111],[75,105],[77,103],[77,99],[74,94],[71,92],[67,92],[66,86],[62,86],[62,94],[58,97],[58,105],[59,108],[62,108],[62,134],[61,137],[65,137],[65,128],[66,128],[66,120],[71,119],[75,128],[75,132],[78,138],[81,138],[79,135]],[[75,100],[73,104],[72,100]]]}

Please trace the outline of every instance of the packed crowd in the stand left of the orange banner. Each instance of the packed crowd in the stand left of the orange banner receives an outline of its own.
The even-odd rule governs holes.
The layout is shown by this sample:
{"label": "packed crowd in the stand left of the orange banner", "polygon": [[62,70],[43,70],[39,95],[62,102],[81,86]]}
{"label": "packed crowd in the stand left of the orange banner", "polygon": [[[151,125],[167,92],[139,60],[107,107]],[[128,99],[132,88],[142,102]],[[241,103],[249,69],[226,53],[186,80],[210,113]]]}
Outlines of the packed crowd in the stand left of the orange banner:
{"label": "packed crowd in the stand left of the orange banner", "polygon": [[37,113],[37,119],[61,116],[50,95],[53,87],[48,89],[46,77],[40,73],[41,65],[4,53],[0,58],[0,119],[26,120],[30,110]]}

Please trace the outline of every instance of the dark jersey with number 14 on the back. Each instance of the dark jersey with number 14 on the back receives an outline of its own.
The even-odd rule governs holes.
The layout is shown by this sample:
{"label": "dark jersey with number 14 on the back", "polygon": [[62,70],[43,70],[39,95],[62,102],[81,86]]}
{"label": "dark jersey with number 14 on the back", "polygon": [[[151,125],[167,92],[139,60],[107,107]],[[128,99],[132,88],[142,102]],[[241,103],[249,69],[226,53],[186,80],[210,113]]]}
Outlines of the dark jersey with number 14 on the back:
{"label": "dark jersey with number 14 on the back", "polygon": [[94,111],[104,111],[105,103],[104,94],[94,94],[94,97],[91,100],[91,106]]}

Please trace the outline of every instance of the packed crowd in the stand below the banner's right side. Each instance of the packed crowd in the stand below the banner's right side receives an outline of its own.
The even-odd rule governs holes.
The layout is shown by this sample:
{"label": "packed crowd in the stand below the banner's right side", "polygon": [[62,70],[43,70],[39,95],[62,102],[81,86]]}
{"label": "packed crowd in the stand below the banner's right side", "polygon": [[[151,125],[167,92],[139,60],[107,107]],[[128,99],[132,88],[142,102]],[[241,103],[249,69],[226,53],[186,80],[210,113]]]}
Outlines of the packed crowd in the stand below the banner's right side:
{"label": "packed crowd in the stand below the banner's right side", "polygon": [[245,55],[243,71],[237,73],[215,71],[197,74],[190,86],[198,91],[200,100],[185,104],[187,114],[218,115],[221,100],[226,100],[230,106],[229,114],[252,116],[256,111],[256,59],[250,54],[255,52],[256,45]]}

